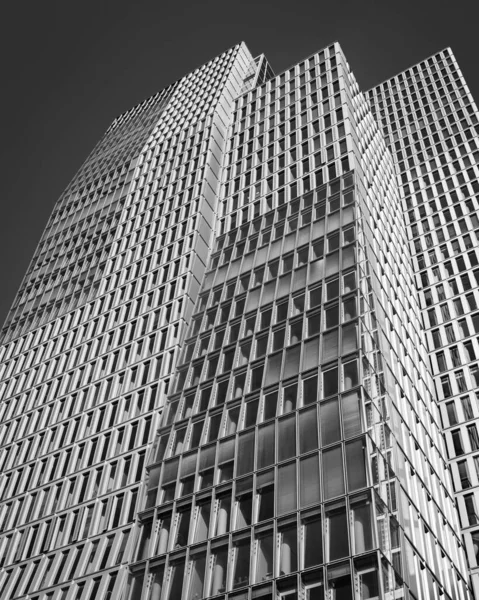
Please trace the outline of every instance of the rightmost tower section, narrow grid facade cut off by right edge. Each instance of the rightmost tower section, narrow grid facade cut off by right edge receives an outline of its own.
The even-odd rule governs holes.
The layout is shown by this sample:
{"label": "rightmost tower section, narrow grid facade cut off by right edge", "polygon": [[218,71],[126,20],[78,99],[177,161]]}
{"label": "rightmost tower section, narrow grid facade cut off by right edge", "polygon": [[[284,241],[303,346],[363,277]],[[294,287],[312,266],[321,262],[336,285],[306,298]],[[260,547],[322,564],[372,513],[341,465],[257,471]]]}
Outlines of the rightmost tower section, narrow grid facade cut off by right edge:
{"label": "rightmost tower section, narrow grid facade cut off by right edge", "polygon": [[368,92],[394,156],[460,525],[479,593],[478,112],[450,49]]}

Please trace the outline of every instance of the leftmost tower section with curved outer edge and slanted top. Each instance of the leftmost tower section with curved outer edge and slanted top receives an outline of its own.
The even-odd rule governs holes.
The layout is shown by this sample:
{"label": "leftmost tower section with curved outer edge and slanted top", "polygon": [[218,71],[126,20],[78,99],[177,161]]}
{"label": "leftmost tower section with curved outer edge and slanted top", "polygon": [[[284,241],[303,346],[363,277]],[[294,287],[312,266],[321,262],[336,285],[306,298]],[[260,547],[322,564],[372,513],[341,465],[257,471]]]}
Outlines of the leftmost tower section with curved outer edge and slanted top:
{"label": "leftmost tower section with curved outer edge and slanted top", "polygon": [[121,115],[54,209],[2,330],[2,598],[123,588],[251,64],[240,44]]}

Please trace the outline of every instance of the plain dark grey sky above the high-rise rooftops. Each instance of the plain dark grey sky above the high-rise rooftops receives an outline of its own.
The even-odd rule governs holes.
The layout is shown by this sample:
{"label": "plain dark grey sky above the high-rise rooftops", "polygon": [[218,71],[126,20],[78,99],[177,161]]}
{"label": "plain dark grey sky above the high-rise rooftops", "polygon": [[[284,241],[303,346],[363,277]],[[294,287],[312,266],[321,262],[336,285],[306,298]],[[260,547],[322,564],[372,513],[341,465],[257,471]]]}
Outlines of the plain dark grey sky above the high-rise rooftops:
{"label": "plain dark grey sky above the high-rise rooftops", "polygon": [[4,3],[0,326],[55,201],[115,116],[240,41],[253,55],[265,53],[278,73],[337,40],[362,89],[451,46],[479,98],[475,4]]}

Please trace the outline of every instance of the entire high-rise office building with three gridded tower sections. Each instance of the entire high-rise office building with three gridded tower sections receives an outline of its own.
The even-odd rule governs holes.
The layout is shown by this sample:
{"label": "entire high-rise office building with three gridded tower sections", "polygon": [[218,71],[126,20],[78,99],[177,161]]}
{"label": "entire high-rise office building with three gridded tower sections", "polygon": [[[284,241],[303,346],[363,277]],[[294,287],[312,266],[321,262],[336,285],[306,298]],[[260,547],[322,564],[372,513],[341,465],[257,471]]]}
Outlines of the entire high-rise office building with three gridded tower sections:
{"label": "entire high-rise office building with three gridded tower sections", "polygon": [[476,126],[338,44],[117,118],[1,331],[0,597],[473,598]]}

